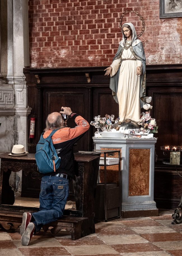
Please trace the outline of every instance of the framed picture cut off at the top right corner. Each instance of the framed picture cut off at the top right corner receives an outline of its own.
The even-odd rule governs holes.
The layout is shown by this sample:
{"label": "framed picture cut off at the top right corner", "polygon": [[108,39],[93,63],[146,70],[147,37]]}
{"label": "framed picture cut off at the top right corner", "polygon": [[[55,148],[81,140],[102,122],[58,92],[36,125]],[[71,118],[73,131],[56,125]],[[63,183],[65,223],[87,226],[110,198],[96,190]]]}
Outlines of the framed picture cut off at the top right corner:
{"label": "framed picture cut off at the top right corner", "polygon": [[182,17],[182,0],[160,0],[160,19]]}

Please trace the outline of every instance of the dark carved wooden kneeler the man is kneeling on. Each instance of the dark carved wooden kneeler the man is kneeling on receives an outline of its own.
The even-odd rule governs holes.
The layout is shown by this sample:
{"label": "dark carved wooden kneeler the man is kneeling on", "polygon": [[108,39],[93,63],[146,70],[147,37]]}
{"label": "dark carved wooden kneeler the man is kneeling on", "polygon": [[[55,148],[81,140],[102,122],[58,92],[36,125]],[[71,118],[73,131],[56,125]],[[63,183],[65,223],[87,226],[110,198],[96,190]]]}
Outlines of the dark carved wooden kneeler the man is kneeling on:
{"label": "dark carved wooden kneeler the man is kneeling on", "polygon": [[[100,154],[92,154],[91,152],[90,155],[75,154],[74,157],[76,178],[73,180],[73,187],[76,207],[67,210],[65,208],[63,218],[43,226],[45,231],[49,227],[53,227],[53,234],[56,234],[61,229],[66,229],[66,231],[71,232],[72,240],[76,240],[90,233],[95,233],[95,190],[97,187]],[[21,225],[23,212],[36,212],[39,210],[39,206],[25,207],[23,205],[13,204],[14,192],[9,185],[11,173],[22,171],[22,177],[24,173],[24,177],[27,177],[27,179],[29,177],[28,175],[31,175],[33,179],[39,179],[39,181],[41,177],[37,170],[34,154],[27,154],[27,156],[23,157],[12,157],[8,153],[2,153],[0,154],[0,164],[0,225],[5,229],[15,229]],[[31,189],[32,191],[34,190],[33,185]],[[23,191],[22,193],[25,194]],[[33,197],[34,193],[31,193],[31,190],[30,194]],[[27,198],[25,195],[23,196],[24,200],[26,201],[27,199],[27,202],[29,202],[30,196],[27,195]]]}

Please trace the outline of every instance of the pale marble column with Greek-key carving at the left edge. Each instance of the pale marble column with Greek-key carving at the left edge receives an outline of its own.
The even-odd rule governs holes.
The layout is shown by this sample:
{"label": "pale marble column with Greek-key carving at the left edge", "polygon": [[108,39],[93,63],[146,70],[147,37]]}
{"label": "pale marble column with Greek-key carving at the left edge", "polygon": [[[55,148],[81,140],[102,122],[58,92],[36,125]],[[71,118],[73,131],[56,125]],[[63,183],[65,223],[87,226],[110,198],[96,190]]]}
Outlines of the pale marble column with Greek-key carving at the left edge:
{"label": "pale marble column with Greek-key carving at the left edge", "polygon": [[0,152],[14,144],[27,149],[27,86],[23,74],[22,1],[1,0]]}

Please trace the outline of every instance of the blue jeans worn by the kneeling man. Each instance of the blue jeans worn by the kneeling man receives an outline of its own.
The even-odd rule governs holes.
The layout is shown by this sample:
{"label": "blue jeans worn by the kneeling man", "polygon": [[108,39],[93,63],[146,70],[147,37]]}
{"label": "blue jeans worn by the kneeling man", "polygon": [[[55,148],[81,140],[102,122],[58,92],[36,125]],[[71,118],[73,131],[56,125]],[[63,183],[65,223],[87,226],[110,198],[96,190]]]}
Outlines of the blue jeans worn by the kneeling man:
{"label": "blue jeans worn by the kneeling man", "polygon": [[66,200],[69,195],[69,180],[57,176],[43,176],[39,195],[39,211],[32,213],[36,231],[63,216]]}

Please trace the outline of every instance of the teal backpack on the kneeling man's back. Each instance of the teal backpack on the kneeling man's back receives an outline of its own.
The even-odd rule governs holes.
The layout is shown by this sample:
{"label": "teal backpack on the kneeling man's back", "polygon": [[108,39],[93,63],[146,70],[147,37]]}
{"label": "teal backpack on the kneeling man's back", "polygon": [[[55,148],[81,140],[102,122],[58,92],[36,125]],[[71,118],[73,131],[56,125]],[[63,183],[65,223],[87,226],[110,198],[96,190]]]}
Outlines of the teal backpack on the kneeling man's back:
{"label": "teal backpack on the kneeling man's back", "polygon": [[[58,130],[58,129],[57,129]],[[57,156],[52,143],[52,135],[57,131],[53,130],[47,138],[43,138],[44,132],[36,146],[35,160],[40,173],[55,172],[60,166],[61,159]]]}

